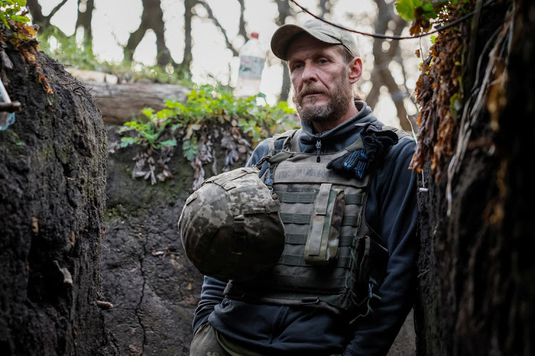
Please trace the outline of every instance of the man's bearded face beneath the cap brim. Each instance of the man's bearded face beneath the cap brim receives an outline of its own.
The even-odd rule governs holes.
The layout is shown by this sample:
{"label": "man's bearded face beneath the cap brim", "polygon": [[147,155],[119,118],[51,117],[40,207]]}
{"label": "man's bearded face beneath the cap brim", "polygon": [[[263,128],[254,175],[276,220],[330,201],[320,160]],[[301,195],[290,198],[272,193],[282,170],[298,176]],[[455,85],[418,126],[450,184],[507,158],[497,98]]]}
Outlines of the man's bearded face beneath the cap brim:
{"label": "man's bearded face beneath the cap brim", "polygon": [[349,118],[344,117],[346,112],[355,108],[350,65],[345,63],[342,51],[340,45],[306,34],[290,43],[287,63],[295,91],[293,101],[302,120],[321,126],[327,122],[338,125]]}

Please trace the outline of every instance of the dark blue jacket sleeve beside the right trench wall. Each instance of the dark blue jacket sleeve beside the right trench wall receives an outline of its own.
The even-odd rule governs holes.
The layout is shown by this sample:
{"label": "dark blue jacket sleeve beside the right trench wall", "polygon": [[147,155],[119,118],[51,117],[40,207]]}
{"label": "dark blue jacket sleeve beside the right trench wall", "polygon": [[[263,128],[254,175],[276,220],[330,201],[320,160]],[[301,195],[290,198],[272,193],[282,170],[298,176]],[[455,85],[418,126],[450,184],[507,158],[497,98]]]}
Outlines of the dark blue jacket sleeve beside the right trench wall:
{"label": "dark blue jacket sleeve beside the right trench wall", "polygon": [[392,147],[372,180],[367,199],[368,224],[382,236],[389,251],[387,275],[374,300],[373,313],[352,324],[353,337],[344,355],[387,355],[414,303],[419,242],[417,176],[409,170],[414,140]]}

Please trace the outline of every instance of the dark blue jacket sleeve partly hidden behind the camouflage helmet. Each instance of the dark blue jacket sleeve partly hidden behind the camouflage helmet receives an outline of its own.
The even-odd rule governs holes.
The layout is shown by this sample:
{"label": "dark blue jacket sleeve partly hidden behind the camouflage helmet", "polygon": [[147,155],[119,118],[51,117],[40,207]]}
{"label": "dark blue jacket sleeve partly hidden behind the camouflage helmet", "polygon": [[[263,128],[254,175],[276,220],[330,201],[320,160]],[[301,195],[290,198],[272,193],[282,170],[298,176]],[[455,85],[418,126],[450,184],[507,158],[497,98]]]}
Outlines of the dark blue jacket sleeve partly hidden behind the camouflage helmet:
{"label": "dark blue jacket sleeve partly hidden behind the camouflage helmet", "polygon": [[[253,155],[250,157],[246,167],[250,167],[256,164],[262,157],[267,154],[268,145],[267,142],[260,142],[255,148]],[[267,168],[267,163],[264,164],[260,174]],[[203,288],[200,290],[200,300],[195,309],[193,315],[193,333],[197,331],[200,325],[203,325],[208,321],[208,317],[213,312],[215,305],[220,304],[223,301],[225,287],[227,282],[220,281],[218,279],[205,276],[203,281]]]}

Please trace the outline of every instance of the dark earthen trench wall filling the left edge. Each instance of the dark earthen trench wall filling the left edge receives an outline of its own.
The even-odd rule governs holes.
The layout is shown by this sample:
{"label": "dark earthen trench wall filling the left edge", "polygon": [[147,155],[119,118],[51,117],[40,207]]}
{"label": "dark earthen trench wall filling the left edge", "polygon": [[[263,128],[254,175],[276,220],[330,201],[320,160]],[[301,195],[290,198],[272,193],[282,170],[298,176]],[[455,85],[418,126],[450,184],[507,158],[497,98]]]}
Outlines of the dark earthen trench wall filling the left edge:
{"label": "dark earthen trench wall filling the left edge", "polygon": [[0,131],[0,347],[4,355],[118,355],[99,308],[101,116],[63,66],[38,51],[29,63],[6,43],[13,68],[2,56],[1,78],[22,110]]}

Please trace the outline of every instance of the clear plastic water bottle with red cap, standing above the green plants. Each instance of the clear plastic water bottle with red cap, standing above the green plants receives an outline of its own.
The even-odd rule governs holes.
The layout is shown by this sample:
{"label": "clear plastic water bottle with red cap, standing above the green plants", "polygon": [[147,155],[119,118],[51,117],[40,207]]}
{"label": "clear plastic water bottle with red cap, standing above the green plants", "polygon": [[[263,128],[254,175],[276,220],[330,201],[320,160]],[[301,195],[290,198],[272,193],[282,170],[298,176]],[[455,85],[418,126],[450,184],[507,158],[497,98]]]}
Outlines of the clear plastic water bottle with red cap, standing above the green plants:
{"label": "clear plastic water bottle with red cap, standing above the green plants", "polygon": [[260,93],[266,55],[267,51],[258,40],[258,33],[251,33],[250,39],[240,48],[240,68],[234,90],[237,98],[247,98]]}

